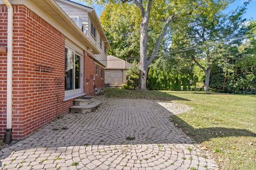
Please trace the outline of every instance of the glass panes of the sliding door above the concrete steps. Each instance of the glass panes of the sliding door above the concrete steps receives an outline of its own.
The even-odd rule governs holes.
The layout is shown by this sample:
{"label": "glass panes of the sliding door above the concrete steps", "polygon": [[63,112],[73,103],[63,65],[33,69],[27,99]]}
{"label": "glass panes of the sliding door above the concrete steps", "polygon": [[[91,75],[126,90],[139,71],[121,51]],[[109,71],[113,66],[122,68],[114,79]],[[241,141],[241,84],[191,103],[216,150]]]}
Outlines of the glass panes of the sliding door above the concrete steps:
{"label": "glass panes of the sliding door above the concrete steps", "polygon": [[74,50],[65,48],[65,96],[81,94],[81,56]]}

